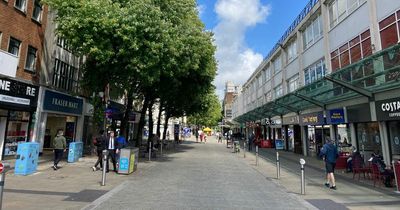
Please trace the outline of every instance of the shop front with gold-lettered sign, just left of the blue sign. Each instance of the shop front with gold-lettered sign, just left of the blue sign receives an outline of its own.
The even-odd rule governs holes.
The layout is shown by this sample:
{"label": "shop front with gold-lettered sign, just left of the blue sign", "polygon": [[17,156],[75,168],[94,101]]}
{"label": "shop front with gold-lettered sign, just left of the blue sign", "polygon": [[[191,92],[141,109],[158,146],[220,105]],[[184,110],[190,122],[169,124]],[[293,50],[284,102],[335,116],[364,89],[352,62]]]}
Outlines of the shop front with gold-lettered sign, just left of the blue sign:
{"label": "shop front with gold-lettered sign, just left of the blue sign", "polygon": [[304,137],[307,155],[318,156],[326,138],[330,138],[330,127],[324,124],[325,118],[322,111],[300,115],[300,125],[303,126],[306,134]]}

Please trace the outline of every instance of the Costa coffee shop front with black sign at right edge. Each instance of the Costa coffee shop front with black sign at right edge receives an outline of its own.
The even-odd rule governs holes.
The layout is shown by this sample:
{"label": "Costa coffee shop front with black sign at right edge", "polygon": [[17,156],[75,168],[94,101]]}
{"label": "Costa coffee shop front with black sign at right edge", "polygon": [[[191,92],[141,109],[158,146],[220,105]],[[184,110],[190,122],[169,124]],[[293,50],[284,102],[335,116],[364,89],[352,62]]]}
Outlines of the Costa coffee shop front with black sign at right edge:
{"label": "Costa coffee shop front with black sign at right edge", "polygon": [[400,160],[400,98],[375,102],[376,117],[387,127],[390,162]]}

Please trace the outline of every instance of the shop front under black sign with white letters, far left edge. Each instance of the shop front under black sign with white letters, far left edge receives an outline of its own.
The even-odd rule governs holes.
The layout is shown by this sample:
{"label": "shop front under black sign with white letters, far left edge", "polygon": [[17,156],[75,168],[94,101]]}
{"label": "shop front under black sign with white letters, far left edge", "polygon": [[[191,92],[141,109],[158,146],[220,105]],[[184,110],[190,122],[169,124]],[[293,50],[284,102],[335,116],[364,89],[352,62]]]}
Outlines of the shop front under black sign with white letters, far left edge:
{"label": "shop front under black sign with white letters, far left edge", "polygon": [[0,78],[1,158],[13,157],[18,144],[32,140],[39,87]]}

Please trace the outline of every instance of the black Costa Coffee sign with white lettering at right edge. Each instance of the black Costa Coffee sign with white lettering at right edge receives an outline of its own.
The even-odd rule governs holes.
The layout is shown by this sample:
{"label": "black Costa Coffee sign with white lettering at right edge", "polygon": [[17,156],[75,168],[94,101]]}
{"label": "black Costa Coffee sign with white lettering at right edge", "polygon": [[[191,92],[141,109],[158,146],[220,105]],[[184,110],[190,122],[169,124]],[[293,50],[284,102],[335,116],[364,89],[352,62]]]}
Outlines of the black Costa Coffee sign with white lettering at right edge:
{"label": "black Costa Coffee sign with white lettering at right edge", "polygon": [[375,102],[377,120],[400,120],[400,98]]}

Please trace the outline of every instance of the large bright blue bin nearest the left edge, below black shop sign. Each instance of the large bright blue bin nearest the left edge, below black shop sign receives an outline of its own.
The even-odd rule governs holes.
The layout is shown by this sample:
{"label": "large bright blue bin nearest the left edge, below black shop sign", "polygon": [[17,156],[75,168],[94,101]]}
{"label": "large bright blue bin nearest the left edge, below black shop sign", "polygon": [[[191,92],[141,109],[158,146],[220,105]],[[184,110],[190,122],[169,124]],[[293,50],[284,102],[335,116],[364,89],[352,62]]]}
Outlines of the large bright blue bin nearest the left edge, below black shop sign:
{"label": "large bright blue bin nearest the left edge, below black shop sign", "polygon": [[24,142],[18,144],[17,160],[15,161],[14,174],[29,175],[37,170],[39,162],[39,144]]}

